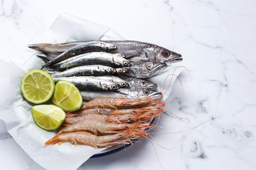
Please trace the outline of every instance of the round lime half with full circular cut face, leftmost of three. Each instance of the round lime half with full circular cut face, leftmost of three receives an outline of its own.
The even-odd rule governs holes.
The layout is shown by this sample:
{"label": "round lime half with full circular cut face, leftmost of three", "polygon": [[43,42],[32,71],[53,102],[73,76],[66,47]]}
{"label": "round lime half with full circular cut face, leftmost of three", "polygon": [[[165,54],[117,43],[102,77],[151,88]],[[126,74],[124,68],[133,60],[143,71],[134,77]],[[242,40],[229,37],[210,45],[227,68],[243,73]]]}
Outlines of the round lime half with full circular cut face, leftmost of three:
{"label": "round lime half with full circular cut face, leftmost of three", "polygon": [[54,86],[54,80],[49,73],[34,69],[22,77],[20,91],[28,102],[41,104],[52,97]]}

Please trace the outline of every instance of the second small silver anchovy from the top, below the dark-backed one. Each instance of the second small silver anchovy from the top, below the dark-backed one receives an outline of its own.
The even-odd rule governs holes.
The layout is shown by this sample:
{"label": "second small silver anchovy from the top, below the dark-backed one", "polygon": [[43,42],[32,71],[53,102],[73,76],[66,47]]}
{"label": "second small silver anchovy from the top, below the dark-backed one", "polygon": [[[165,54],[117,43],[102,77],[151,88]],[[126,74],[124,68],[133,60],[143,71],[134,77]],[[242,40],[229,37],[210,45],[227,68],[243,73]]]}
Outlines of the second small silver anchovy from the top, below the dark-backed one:
{"label": "second small silver anchovy from the top, below the dark-backed one", "polygon": [[75,55],[64,61],[58,62],[53,66],[50,66],[52,70],[66,70],[76,66],[101,64],[111,67],[127,67],[130,66],[130,62],[124,58],[120,53],[106,53],[106,52],[89,52],[80,55]]}

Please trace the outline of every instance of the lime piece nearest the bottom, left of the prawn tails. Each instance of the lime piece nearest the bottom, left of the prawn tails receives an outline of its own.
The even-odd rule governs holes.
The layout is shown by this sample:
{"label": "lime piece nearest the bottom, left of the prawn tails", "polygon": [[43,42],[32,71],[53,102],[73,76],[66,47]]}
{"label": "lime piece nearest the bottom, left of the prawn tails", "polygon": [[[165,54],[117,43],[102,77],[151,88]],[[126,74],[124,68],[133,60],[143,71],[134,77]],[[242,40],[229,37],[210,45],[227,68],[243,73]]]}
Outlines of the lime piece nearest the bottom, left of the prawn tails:
{"label": "lime piece nearest the bottom, left of the prawn tails", "polygon": [[31,114],[36,125],[44,130],[58,129],[66,117],[64,110],[53,104],[33,106]]}

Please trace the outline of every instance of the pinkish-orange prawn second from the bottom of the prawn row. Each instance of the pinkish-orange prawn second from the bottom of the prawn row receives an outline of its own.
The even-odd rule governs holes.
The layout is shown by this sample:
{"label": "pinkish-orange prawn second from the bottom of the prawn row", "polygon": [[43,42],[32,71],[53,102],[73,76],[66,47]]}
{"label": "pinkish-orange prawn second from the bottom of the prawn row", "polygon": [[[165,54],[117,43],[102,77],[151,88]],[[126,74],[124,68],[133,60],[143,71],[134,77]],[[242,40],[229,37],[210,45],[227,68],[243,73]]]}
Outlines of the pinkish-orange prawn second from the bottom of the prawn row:
{"label": "pinkish-orange prawn second from the bottom of the prawn row", "polygon": [[94,135],[110,135],[114,133],[118,133],[121,130],[126,129],[141,129],[148,128],[149,125],[136,123],[136,124],[117,124],[117,123],[107,123],[102,122],[97,119],[84,119],[83,121],[79,121],[70,126],[66,126],[62,128],[58,134],[75,132],[75,131],[87,131],[91,132]]}

